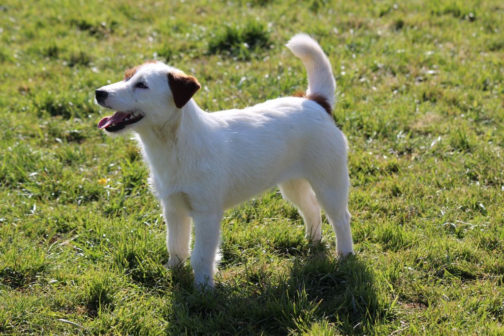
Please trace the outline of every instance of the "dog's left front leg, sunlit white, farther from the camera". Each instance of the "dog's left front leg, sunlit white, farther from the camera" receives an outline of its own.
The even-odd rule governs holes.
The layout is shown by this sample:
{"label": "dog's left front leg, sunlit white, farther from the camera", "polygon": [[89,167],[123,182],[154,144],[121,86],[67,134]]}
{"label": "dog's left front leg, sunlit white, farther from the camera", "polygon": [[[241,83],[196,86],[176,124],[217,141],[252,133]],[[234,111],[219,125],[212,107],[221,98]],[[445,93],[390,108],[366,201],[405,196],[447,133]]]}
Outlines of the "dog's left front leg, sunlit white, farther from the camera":
{"label": "dog's left front leg, sunlit white, farther from the camera", "polygon": [[178,208],[163,202],[166,221],[166,247],[170,258],[166,268],[181,266],[190,254],[191,218]]}

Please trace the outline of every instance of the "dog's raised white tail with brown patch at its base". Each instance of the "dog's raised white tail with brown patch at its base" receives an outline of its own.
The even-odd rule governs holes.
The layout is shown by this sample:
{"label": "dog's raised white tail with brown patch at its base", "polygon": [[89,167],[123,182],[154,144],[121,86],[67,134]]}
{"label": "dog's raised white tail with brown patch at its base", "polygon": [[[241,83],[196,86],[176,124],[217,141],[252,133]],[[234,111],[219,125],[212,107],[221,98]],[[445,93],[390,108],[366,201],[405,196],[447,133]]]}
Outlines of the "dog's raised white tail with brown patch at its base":
{"label": "dog's raised white tail with brown patch at its base", "polygon": [[309,35],[302,33],[294,35],[285,45],[306,68],[308,74],[306,97],[317,101],[331,114],[334,107],[336,81],[331,70],[331,63],[321,46]]}

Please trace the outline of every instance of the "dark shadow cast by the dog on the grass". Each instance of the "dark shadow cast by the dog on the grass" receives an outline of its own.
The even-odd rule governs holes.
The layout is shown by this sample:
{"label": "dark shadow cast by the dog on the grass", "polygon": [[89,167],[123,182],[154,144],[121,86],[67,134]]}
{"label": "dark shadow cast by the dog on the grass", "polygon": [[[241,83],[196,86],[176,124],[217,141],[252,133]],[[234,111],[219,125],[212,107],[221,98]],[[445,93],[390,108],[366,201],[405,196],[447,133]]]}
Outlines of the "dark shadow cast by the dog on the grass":
{"label": "dark shadow cast by the dog on the grass", "polygon": [[371,267],[358,255],[334,258],[330,253],[324,246],[312,247],[291,259],[285,276],[245,270],[232,277],[234,283],[229,278],[218,282],[214,291],[196,289],[188,281],[190,268],[184,267],[172,273],[168,333],[311,334],[331,328],[367,333],[386,318]]}

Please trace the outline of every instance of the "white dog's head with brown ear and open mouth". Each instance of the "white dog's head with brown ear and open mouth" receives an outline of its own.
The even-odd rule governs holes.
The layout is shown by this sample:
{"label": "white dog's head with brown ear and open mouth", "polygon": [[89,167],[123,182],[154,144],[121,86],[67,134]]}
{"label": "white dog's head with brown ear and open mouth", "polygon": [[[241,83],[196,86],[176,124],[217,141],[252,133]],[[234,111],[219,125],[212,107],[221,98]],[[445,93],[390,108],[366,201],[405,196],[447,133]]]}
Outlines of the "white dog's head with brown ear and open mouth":
{"label": "white dog's head with brown ear and open mouth", "polygon": [[162,62],[147,62],[124,72],[122,81],[95,91],[95,103],[116,110],[98,123],[110,133],[138,131],[169,120],[200,89],[188,76]]}

